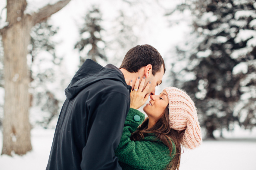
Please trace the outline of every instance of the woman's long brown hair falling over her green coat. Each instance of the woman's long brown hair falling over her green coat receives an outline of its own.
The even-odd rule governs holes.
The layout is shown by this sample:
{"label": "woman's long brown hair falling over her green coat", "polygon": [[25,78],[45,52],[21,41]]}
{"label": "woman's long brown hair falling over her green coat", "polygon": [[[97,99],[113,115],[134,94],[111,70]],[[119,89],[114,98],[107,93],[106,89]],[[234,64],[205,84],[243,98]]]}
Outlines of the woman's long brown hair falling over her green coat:
{"label": "woman's long brown hair falling over her green coat", "polygon": [[[169,127],[169,109],[166,107],[163,115],[156,124],[148,129],[148,118],[142,122],[142,124],[138,127],[138,129],[131,134],[131,140],[140,141],[144,138],[144,136],[148,133],[154,133],[157,136],[157,139],[161,140],[170,150],[170,156],[172,157],[173,145],[174,142],[176,147],[176,154],[170,163],[167,165],[167,170],[179,170],[180,167],[180,154],[181,154],[181,141],[182,136],[185,130],[177,131],[173,130]],[[171,141],[172,140],[172,141]]]}

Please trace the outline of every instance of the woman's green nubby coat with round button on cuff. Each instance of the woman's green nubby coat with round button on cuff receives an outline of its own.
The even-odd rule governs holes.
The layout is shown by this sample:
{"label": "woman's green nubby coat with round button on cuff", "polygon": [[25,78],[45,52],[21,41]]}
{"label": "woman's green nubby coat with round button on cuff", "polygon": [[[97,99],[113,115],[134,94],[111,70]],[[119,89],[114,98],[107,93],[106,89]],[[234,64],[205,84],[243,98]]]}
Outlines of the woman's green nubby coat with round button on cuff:
{"label": "woman's green nubby coat with round button on cuff", "polygon": [[136,109],[130,108],[123,128],[120,144],[115,150],[119,164],[123,170],[163,170],[173,159],[176,153],[174,143],[172,157],[170,150],[154,134],[148,134],[141,141],[130,139],[137,127],[144,120],[145,115]]}

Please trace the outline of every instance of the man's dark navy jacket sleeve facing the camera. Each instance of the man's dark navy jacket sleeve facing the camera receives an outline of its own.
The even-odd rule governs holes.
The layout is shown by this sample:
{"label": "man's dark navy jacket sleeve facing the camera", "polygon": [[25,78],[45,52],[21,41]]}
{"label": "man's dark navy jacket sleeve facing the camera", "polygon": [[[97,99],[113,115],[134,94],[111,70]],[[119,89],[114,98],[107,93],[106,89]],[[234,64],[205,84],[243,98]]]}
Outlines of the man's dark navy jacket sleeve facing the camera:
{"label": "man's dark navy jacket sleeve facing the camera", "polygon": [[121,170],[114,154],[130,106],[130,99],[118,92],[105,93],[93,115],[94,121],[82,151],[81,169]]}

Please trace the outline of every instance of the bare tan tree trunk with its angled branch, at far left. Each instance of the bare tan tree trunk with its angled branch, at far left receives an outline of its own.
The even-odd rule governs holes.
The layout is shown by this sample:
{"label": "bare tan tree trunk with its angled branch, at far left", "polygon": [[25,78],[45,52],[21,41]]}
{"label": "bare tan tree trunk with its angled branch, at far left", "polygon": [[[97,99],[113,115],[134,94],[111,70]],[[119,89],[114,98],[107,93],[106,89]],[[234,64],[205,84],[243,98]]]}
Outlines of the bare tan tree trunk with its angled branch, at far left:
{"label": "bare tan tree trunk with its angled branch, at far left", "polygon": [[26,0],[7,0],[7,26],[0,30],[4,47],[5,104],[2,154],[23,155],[32,150],[29,123],[29,70],[27,46],[30,29],[61,10],[70,0],[46,5],[39,12],[26,14]]}

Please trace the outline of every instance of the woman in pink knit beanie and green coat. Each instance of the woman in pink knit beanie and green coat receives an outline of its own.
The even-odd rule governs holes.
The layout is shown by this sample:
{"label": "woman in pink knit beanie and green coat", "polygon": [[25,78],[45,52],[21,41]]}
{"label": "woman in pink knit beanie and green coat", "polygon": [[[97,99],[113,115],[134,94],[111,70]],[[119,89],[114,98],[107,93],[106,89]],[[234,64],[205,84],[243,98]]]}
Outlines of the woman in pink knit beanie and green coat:
{"label": "woman in pink knit beanie and green coat", "polygon": [[195,105],[186,92],[167,87],[160,95],[150,96],[143,108],[148,115],[144,120],[137,110],[145,103],[144,82],[139,86],[137,79],[130,94],[130,110],[115,150],[119,164],[123,170],[179,169],[181,146],[194,149],[202,142]]}

